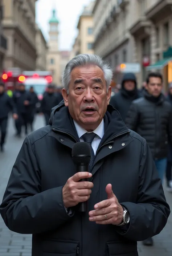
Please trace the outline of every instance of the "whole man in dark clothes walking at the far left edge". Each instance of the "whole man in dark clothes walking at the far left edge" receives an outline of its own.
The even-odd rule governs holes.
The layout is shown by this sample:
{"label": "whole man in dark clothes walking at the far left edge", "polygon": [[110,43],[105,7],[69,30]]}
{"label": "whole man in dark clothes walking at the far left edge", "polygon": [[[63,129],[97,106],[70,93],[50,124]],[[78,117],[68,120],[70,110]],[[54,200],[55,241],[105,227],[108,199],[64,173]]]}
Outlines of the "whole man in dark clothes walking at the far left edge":
{"label": "whole man in dark clothes walking at the far left edge", "polygon": [[8,113],[12,111],[13,118],[17,119],[17,110],[12,99],[5,93],[5,85],[0,82],[0,129],[1,129],[1,140],[0,140],[0,151],[4,151],[5,137],[7,134],[7,121]]}

